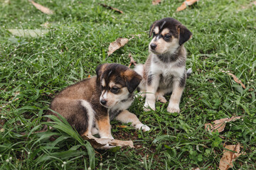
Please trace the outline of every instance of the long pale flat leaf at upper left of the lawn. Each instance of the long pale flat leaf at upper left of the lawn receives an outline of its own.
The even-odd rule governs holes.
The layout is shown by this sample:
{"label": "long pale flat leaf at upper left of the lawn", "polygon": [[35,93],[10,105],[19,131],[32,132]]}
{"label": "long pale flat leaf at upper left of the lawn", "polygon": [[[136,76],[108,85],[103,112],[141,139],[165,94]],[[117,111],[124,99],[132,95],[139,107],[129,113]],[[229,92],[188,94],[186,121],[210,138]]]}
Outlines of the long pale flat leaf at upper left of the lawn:
{"label": "long pale flat leaf at upper left of the lawn", "polygon": [[49,32],[49,30],[23,30],[23,29],[9,29],[9,32],[12,33],[12,35],[18,36],[18,37],[39,37],[41,35],[45,35]]}

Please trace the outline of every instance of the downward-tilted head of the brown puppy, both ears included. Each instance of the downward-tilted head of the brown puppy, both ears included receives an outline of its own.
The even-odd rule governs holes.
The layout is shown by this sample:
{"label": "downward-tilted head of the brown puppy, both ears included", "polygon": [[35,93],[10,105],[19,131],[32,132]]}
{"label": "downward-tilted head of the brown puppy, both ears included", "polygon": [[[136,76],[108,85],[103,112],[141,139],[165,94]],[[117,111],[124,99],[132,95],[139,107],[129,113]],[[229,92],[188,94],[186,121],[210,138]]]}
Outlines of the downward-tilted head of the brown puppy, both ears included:
{"label": "downward-tilted head of the brown puppy, both ears included", "polygon": [[96,69],[97,86],[101,88],[100,103],[112,108],[129,98],[139,86],[142,77],[121,64],[101,64]]}

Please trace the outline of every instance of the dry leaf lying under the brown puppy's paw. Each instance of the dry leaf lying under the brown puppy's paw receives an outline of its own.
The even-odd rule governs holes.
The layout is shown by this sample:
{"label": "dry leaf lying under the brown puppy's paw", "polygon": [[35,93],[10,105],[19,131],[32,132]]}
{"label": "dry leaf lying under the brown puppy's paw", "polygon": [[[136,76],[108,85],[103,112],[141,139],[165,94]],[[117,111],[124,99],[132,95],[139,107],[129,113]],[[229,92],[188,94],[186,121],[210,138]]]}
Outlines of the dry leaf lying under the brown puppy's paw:
{"label": "dry leaf lying under the brown puppy's paw", "polygon": [[107,138],[97,138],[94,136],[82,136],[84,140],[90,142],[95,149],[110,149],[112,147],[134,147],[132,140],[113,140]]}

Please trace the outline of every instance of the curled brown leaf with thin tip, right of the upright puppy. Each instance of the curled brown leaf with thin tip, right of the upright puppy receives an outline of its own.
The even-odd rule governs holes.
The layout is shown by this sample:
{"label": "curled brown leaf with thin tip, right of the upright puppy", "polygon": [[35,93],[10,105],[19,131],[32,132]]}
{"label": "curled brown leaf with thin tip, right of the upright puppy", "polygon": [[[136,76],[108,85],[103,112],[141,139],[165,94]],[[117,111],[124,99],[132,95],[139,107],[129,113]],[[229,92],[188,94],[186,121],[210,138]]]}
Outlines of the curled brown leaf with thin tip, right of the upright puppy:
{"label": "curled brown leaf with thin tip, right of the upright puppy", "polygon": [[209,130],[211,132],[213,132],[215,130],[217,130],[218,132],[222,132],[225,129],[226,123],[238,120],[241,117],[242,117],[242,115],[237,116],[237,117],[233,116],[232,118],[223,118],[223,119],[220,119],[220,120],[214,120],[213,121],[214,125],[212,125],[211,123],[206,123],[205,124],[205,129]]}

